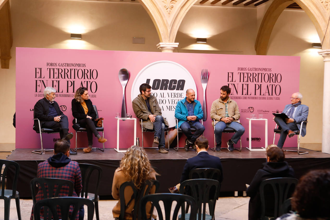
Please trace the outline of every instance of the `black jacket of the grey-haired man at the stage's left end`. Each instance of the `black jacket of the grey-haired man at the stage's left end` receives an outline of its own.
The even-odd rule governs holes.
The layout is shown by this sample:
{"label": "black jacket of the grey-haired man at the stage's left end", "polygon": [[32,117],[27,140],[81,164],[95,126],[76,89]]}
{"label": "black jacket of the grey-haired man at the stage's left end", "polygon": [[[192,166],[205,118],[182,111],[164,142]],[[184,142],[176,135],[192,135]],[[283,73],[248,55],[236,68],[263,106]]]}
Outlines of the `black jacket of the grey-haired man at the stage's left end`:
{"label": "black jacket of the grey-haired man at the stage's left end", "polygon": [[[45,121],[53,121],[53,116],[48,116],[49,113],[49,100],[46,98],[40,99],[33,107],[34,113],[33,117],[38,118],[40,120],[40,125],[42,125]],[[54,101],[54,109],[56,110],[58,115],[64,115],[60,110],[57,102]],[[38,121],[34,120],[33,130],[39,132]]]}

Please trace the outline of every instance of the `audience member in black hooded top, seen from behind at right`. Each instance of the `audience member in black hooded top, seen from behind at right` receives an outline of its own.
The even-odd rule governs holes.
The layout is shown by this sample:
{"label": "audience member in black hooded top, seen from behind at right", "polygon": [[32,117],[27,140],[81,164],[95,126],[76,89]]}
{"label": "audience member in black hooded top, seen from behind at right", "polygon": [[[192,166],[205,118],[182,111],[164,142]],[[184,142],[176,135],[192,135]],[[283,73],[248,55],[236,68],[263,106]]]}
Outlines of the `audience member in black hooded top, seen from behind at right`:
{"label": "audience member in black hooded top, seen from behind at right", "polygon": [[[277,177],[291,177],[294,178],[294,171],[284,161],[284,152],[278,147],[269,147],[266,151],[267,162],[263,163],[262,169],[259,169],[254,175],[250,186],[247,188],[247,196],[250,197],[248,206],[248,219],[255,220],[260,219],[261,215],[261,202],[259,186],[260,183],[265,179],[277,178]],[[271,212],[271,211],[270,211]],[[272,213],[272,212],[271,212]],[[266,216],[267,210],[266,210]],[[269,214],[272,215],[272,214]]]}

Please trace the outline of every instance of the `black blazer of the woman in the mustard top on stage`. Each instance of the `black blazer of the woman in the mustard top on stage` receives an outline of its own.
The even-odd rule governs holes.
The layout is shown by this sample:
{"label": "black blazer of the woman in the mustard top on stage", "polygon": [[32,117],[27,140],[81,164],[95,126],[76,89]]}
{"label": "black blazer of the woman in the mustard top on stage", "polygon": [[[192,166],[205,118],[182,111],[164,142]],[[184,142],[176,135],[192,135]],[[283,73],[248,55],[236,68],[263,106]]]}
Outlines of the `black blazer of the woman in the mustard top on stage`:
{"label": "black blazer of the woman in the mustard top on stage", "polygon": [[[73,99],[71,101],[71,107],[72,107],[72,115],[73,117],[77,118],[77,123],[79,123],[82,119],[86,118],[86,116],[91,116],[92,119],[96,118],[96,112],[93,108],[93,103],[90,101],[90,99],[85,100],[88,112],[85,114],[85,111],[82,108],[82,105],[80,102],[77,102],[76,99]],[[76,120],[73,119],[73,124],[76,124]]]}

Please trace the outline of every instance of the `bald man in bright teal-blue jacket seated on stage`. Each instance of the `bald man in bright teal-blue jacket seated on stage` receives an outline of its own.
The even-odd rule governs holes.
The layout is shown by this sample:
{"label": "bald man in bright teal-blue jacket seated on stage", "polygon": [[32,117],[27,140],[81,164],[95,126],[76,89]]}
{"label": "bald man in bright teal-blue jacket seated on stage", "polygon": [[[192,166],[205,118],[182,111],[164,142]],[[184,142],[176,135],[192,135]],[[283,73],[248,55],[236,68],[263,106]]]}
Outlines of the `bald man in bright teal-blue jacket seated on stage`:
{"label": "bald man in bright teal-blue jacket seated on stage", "polygon": [[[187,137],[184,150],[188,151],[189,147],[196,149],[194,143],[203,134],[205,127],[199,122],[203,118],[203,110],[201,103],[195,100],[194,90],[187,89],[186,97],[180,100],[175,108],[175,117],[178,119],[179,128]],[[196,129],[194,134],[190,128]]]}

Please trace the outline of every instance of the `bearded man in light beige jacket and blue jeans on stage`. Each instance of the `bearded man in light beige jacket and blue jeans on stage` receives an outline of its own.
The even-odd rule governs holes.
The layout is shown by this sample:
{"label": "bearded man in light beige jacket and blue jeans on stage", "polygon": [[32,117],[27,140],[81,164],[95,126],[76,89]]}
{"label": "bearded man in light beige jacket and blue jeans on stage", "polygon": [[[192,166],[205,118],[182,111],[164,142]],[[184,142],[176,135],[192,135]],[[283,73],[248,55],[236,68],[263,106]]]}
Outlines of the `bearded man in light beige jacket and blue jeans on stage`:
{"label": "bearded man in light beige jacket and blue jeans on stage", "polygon": [[229,98],[231,89],[224,85],[220,89],[220,98],[215,100],[211,106],[211,118],[215,119],[215,150],[221,150],[221,135],[226,127],[233,128],[236,133],[231,139],[227,141],[229,151],[234,150],[234,143],[236,144],[240,140],[241,136],[245,132],[245,128],[238,122],[240,118],[240,110],[234,100]]}

